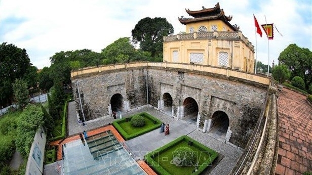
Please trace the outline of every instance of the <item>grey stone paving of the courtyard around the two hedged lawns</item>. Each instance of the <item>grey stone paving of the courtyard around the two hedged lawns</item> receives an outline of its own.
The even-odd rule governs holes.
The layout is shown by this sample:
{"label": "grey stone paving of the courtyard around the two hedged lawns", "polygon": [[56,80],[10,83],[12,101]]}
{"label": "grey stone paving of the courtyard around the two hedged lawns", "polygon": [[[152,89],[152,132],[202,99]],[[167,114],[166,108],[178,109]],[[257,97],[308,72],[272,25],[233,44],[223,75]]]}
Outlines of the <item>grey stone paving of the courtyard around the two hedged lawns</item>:
{"label": "grey stone paving of the courtyard around the two hedged lawns", "polygon": [[[176,120],[167,114],[155,110],[151,107],[141,107],[134,111],[122,114],[123,117],[131,116],[139,112],[147,112],[154,117],[159,118],[164,123],[170,124],[170,135],[165,136],[164,133],[160,134],[159,129],[155,129],[152,132],[146,133],[137,138],[126,141],[126,145],[130,152],[133,153],[135,159],[143,159],[144,155],[157,149],[174,139],[187,135],[190,138],[201,142],[207,147],[217,151],[224,157],[219,162],[219,164],[211,171],[210,174],[228,174],[231,169],[235,166],[237,160],[241,156],[243,150],[241,148],[236,148],[225,144],[222,141],[216,140],[209,136],[207,133],[202,133],[200,130],[195,128],[195,124],[190,124],[189,122],[183,120]],[[83,130],[92,130],[94,128],[101,127],[108,123],[112,123],[113,118],[110,116],[104,116],[96,120],[88,121],[86,125],[80,125],[77,122],[77,116],[75,112],[74,102],[68,104],[68,135],[76,135],[83,132]]]}

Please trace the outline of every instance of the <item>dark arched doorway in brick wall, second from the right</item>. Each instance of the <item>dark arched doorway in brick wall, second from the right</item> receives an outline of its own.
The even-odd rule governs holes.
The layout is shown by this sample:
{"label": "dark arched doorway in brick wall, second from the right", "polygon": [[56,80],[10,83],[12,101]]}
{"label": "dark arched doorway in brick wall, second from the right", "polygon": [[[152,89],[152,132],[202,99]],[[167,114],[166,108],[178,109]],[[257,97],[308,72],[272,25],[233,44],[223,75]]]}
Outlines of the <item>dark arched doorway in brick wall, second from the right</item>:
{"label": "dark arched doorway in brick wall, second from the right", "polygon": [[183,101],[183,120],[196,124],[198,115],[198,104],[193,98],[186,98]]}

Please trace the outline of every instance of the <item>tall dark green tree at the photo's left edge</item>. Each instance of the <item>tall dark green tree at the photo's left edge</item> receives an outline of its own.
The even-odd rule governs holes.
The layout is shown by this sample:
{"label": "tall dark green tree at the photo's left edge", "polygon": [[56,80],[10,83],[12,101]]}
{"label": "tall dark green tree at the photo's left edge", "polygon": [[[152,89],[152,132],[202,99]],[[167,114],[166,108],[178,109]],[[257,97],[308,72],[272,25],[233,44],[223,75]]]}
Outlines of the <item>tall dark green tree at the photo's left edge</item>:
{"label": "tall dark green tree at the photo's left edge", "polygon": [[12,84],[22,78],[30,66],[25,49],[3,42],[0,45],[0,105],[8,106],[13,100]]}

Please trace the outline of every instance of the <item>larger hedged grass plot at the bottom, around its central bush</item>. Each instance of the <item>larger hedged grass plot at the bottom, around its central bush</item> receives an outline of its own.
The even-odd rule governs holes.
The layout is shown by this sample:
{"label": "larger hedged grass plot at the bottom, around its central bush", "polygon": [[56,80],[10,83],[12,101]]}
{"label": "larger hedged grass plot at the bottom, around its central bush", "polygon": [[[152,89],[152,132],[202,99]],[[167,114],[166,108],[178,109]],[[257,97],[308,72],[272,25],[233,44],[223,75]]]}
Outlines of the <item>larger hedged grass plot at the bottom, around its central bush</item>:
{"label": "larger hedged grass plot at the bottom, around its central bush", "polygon": [[[192,154],[196,155],[196,161],[190,166],[176,165],[173,152],[179,147],[192,149]],[[218,153],[203,144],[182,136],[169,144],[154,150],[145,155],[145,160],[159,174],[200,174],[217,158]],[[179,162],[179,161],[178,161]],[[196,170],[197,169],[197,170]]]}

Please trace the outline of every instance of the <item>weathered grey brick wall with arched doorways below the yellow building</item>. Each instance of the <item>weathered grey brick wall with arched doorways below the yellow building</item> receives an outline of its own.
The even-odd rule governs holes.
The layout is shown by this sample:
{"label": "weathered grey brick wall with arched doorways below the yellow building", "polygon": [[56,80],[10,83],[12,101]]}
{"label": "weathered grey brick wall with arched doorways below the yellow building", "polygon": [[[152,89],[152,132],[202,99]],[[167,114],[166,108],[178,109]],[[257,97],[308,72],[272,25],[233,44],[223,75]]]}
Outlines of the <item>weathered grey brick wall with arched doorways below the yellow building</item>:
{"label": "weathered grey brick wall with arched doorways below the yellow building", "polygon": [[[239,81],[153,67],[100,72],[72,81],[74,91],[75,83],[79,83],[84,106],[88,109],[86,112],[91,116],[89,119],[108,115],[110,98],[114,94],[121,94],[131,110],[147,104],[147,93],[148,103],[154,107],[158,107],[163,95],[168,93],[173,100],[176,118],[183,119],[183,112],[179,109],[183,109],[186,98],[196,101],[201,116],[200,128],[216,111],[225,112],[232,131],[229,141],[241,148],[245,148],[254,129],[267,91],[263,87]],[[74,95],[79,109],[79,98],[77,93]]]}

